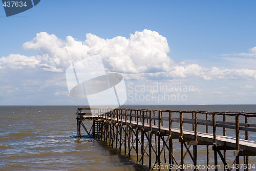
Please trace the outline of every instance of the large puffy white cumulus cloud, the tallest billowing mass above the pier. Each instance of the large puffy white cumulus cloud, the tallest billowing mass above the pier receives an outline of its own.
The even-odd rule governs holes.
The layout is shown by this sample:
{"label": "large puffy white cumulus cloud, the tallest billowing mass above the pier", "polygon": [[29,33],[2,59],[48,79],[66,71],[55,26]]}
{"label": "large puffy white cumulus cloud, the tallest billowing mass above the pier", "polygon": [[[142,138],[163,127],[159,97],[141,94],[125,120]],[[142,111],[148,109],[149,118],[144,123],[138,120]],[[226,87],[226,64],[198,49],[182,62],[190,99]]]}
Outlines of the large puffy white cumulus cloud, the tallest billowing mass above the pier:
{"label": "large puffy white cumulus cloud, the tallest billowing mass above the pier", "polygon": [[41,32],[23,48],[40,50],[36,58],[42,68],[50,71],[65,71],[71,62],[95,54],[101,55],[106,69],[121,73],[167,71],[173,62],[167,56],[166,38],[155,31],[135,32],[130,38],[103,39],[91,33],[86,37],[84,42],[71,36],[62,40],[54,34]]}

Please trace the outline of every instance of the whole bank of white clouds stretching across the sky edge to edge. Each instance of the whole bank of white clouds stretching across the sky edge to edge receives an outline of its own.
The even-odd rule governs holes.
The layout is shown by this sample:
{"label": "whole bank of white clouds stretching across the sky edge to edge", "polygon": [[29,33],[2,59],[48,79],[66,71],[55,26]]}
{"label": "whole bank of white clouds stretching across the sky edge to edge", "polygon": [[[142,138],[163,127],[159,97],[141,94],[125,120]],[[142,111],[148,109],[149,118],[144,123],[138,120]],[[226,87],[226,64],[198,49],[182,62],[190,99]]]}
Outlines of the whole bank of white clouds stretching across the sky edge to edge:
{"label": "whole bank of white clouds stretching across the sky edge to edge", "polygon": [[[126,79],[173,79],[201,78],[203,80],[256,79],[256,70],[205,68],[198,64],[177,63],[167,54],[167,39],[156,31],[143,30],[129,38],[117,36],[103,39],[86,34],[85,41],[67,36],[65,40],[54,34],[40,32],[23,44],[25,50],[39,51],[35,56],[10,54],[0,58],[0,69],[23,69],[32,67],[52,72],[65,72],[72,62],[100,54],[105,69],[120,72]],[[256,56],[256,47],[249,53],[237,55]]]}

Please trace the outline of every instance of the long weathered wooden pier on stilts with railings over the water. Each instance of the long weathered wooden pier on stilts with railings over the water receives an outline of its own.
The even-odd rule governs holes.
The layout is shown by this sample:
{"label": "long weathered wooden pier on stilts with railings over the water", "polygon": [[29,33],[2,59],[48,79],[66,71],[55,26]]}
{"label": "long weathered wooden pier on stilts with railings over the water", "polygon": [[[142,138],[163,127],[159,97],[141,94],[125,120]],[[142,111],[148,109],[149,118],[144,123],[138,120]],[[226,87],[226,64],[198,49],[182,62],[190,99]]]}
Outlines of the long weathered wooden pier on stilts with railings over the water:
{"label": "long weathered wooden pier on stilts with railings over the water", "polygon": [[[76,114],[79,138],[82,126],[90,137],[135,156],[149,169],[256,170],[256,113],[78,108]],[[84,120],[93,121],[89,131]],[[205,161],[199,162],[202,145]],[[226,161],[227,153],[232,162]]]}

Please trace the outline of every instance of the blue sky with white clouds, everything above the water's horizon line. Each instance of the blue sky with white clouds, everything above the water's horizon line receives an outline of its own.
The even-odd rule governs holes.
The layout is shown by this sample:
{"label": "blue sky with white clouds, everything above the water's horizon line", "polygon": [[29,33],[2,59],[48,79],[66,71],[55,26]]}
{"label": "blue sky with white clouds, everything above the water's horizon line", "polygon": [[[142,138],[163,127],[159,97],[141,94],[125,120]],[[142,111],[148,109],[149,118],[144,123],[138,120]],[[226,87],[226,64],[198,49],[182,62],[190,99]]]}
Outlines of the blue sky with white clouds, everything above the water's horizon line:
{"label": "blue sky with white clouds, everything above the water's horizon line", "polygon": [[[126,41],[131,45],[140,42],[139,50],[149,51],[152,56],[141,57],[143,52],[138,52],[136,48],[120,52],[130,57],[129,60],[120,57],[119,51],[110,54],[114,55],[115,61],[119,60],[118,55],[122,59],[120,61],[126,64],[133,61],[130,69],[121,68],[122,65],[119,63],[118,66],[115,61],[111,63],[111,56],[106,55],[109,51],[103,53],[102,49],[96,50],[104,56],[102,60],[107,71],[124,75],[127,93],[130,93],[127,104],[255,104],[255,18],[255,1],[41,0],[34,8],[10,17],[5,16],[1,7],[0,105],[87,103],[69,96],[65,79],[67,64],[44,61],[47,54],[51,60],[55,56],[58,60],[65,60],[42,43],[47,42],[46,37],[53,38],[53,35],[57,38],[51,39],[52,43],[56,40],[64,41],[63,45],[68,44],[66,37],[71,36],[89,49],[92,44],[104,44],[110,51],[115,49],[109,44],[118,46]],[[46,33],[38,35],[42,39],[32,42],[42,32]],[[91,33],[91,38],[88,33]],[[125,39],[113,39],[105,44],[92,35],[104,40],[117,36]],[[132,41],[131,35],[140,38]],[[25,45],[26,42],[30,44]],[[35,42],[38,44],[34,45]],[[152,51],[152,47],[159,51]],[[137,56],[133,56],[135,53]],[[159,60],[156,53],[162,55]],[[85,54],[84,57],[89,52]],[[20,66],[17,61],[25,60],[24,56],[28,57],[26,60],[34,57],[31,59],[34,65],[23,63]],[[4,60],[3,57],[7,58]],[[155,59],[161,62],[154,67]],[[169,67],[162,65],[164,59],[168,59],[166,65]],[[38,61],[39,64],[36,63]],[[46,64],[52,65],[51,70],[42,68]],[[142,90],[143,86],[153,88],[159,84],[168,88],[193,86],[194,90],[165,92],[176,97],[177,93],[185,95],[185,100],[176,98],[156,102],[132,99],[136,93],[144,95],[141,99],[146,94],[152,96],[152,92]],[[140,89],[140,92],[129,90],[131,87]],[[164,92],[157,90],[154,93],[163,95]]]}

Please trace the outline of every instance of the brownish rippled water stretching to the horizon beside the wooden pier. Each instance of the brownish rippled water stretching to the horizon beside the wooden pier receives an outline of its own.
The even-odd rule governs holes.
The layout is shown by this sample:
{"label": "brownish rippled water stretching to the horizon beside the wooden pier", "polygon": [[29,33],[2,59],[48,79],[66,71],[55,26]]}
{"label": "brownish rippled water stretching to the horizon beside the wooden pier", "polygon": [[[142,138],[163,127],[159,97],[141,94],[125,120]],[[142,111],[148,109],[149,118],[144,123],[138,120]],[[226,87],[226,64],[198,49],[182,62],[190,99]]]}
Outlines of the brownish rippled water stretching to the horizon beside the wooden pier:
{"label": "brownish rippled water stretching to the horizon beside the wooden pier", "polygon": [[[75,120],[78,107],[81,106],[0,106],[0,170],[146,170],[101,141],[88,136],[78,139]],[[256,111],[256,105],[124,108]],[[84,123],[91,126],[91,122]],[[199,153],[200,156],[205,158]]]}

